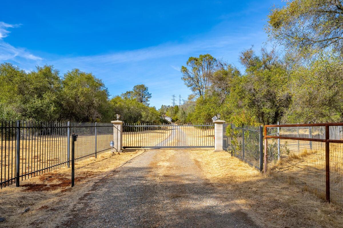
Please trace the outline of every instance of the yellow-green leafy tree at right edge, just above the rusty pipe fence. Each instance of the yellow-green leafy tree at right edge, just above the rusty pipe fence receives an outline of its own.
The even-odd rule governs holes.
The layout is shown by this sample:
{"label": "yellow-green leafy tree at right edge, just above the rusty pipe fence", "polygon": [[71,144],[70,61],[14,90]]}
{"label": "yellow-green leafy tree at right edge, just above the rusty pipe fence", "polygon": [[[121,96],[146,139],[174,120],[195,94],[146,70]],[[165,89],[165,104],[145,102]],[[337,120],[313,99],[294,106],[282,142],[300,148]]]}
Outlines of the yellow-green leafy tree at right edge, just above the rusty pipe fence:
{"label": "yellow-green leafy tree at right edge, just above the rusty pipe fence", "polygon": [[343,67],[333,55],[292,70],[288,83],[292,103],[284,122],[340,122],[343,113]]}

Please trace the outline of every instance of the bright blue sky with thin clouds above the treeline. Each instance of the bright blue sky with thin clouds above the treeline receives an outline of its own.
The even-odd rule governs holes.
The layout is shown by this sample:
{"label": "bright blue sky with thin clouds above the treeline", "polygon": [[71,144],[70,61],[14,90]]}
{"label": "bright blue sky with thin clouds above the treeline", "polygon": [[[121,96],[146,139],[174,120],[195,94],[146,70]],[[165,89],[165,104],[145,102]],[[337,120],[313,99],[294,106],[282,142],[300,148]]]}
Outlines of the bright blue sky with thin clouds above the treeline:
{"label": "bright blue sky with thin clouds above the treeline", "polygon": [[[145,84],[151,106],[187,98],[188,57],[209,53],[239,67],[239,52],[267,41],[272,1],[13,1],[0,9],[0,63],[54,65],[101,78],[111,95]],[[178,102],[177,102],[178,103]]]}

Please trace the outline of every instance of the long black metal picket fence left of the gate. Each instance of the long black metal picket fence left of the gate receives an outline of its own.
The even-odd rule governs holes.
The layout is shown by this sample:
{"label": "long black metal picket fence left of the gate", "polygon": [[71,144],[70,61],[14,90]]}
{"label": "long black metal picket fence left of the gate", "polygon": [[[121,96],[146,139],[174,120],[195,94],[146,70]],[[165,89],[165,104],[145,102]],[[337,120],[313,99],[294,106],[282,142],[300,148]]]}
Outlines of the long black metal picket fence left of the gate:
{"label": "long black metal picket fence left of the gate", "polygon": [[78,134],[75,160],[80,161],[111,150],[111,123],[2,121],[0,125],[1,187],[20,179],[68,166],[71,134]]}

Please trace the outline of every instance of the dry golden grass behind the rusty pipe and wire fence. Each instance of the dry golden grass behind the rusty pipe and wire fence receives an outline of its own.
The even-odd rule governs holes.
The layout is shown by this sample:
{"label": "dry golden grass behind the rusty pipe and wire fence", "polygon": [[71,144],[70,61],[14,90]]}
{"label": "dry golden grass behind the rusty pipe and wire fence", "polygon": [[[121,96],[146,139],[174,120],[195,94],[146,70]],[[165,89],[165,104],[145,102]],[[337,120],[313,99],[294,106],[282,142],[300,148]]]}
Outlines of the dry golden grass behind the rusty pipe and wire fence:
{"label": "dry golden grass behind the rusty pipe and wire fence", "polygon": [[[304,141],[282,144],[281,159],[268,164],[269,174],[325,199],[325,145],[312,142],[310,149]],[[330,143],[330,195],[332,202],[343,205],[343,144]]]}

